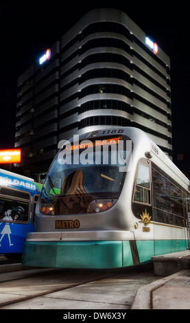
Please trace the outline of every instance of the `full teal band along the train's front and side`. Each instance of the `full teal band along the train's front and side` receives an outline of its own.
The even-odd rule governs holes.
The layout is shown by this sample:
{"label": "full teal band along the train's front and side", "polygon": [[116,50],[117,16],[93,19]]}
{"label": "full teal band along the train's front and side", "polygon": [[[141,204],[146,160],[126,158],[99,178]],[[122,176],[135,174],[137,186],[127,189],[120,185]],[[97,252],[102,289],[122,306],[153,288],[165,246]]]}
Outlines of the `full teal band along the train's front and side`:
{"label": "full teal band along the train's front and side", "polygon": [[[186,250],[185,240],[136,241],[140,263]],[[72,255],[72,257],[71,257]],[[119,268],[134,265],[130,241],[26,242],[23,265],[62,268]]]}

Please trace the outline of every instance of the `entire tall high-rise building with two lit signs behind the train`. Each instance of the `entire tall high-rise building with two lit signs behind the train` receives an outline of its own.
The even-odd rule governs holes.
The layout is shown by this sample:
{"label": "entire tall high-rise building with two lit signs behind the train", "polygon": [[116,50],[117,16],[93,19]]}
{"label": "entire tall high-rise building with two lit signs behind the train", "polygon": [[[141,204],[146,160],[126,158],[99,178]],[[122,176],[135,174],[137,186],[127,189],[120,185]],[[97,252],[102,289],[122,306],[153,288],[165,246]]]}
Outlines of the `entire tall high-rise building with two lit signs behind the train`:
{"label": "entire tall high-rise building with two lit signs behind the train", "polygon": [[110,125],[142,129],[171,157],[169,67],[127,14],[88,12],[19,77],[20,169],[39,180],[60,140]]}

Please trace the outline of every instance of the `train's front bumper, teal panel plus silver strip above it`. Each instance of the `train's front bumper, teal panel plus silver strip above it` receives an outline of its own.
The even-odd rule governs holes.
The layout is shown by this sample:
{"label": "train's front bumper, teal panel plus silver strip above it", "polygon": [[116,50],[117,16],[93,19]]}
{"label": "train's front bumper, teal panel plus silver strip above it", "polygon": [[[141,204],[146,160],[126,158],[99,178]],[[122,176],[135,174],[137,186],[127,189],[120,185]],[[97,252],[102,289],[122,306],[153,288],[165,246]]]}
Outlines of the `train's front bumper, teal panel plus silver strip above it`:
{"label": "train's front bumper, teal panel plus silver strip above it", "polygon": [[27,236],[22,263],[78,269],[128,267],[134,265],[130,247],[133,240],[132,232],[121,231],[85,232],[85,235],[84,232],[35,232]]}

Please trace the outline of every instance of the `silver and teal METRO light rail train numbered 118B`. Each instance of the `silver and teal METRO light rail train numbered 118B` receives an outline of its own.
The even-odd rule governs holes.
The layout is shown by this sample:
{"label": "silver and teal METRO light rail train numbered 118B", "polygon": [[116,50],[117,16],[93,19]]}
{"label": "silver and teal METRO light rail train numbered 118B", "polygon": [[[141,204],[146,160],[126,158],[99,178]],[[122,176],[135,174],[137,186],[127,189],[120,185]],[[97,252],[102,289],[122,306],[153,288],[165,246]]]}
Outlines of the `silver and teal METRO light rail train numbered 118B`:
{"label": "silver and teal METRO light rail train numbered 118B", "polygon": [[189,248],[189,179],[140,129],[62,143],[27,234],[23,265],[117,268]]}

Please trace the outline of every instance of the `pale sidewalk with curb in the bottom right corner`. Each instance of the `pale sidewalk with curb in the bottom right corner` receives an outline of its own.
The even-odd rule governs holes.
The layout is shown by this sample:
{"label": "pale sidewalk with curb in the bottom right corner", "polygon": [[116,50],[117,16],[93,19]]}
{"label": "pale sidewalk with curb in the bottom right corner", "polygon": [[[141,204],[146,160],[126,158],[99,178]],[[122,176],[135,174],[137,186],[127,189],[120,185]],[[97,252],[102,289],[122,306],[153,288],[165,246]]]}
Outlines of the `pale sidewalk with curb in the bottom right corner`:
{"label": "pale sidewalk with curb in the bottom right corner", "polygon": [[190,309],[190,270],[138,289],[131,309]]}

